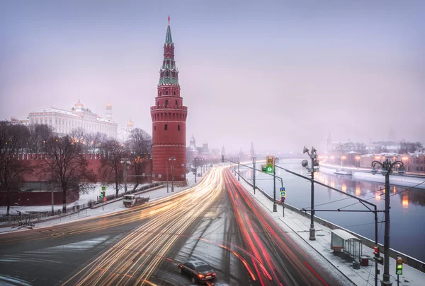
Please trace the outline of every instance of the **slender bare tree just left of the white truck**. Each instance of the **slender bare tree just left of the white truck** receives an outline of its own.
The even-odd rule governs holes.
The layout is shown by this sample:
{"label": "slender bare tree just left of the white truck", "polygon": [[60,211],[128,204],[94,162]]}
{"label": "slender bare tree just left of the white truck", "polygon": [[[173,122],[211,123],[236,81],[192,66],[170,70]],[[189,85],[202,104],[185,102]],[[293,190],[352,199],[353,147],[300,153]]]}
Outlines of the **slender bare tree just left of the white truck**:
{"label": "slender bare tree just left of the white truck", "polygon": [[99,167],[99,174],[101,181],[104,184],[115,183],[115,194],[118,196],[119,185],[123,181],[123,159],[125,152],[123,144],[116,139],[108,139],[101,144],[101,166]]}

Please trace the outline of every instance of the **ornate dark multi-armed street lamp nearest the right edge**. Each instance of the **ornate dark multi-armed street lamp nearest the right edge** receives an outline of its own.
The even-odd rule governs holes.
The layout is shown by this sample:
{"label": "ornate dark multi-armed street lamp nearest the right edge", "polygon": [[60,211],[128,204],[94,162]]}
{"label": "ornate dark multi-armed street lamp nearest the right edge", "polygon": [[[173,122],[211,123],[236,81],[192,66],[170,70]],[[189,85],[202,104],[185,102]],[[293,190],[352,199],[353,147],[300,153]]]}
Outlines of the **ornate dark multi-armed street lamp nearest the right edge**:
{"label": "ornate dark multi-armed street lamp nearest the right edge", "polygon": [[404,174],[404,164],[402,161],[395,161],[391,163],[390,159],[384,162],[373,161],[372,174],[378,172],[375,166],[380,166],[382,176],[385,176],[385,241],[384,241],[384,274],[382,275],[382,285],[392,285],[390,281],[390,174],[392,173],[392,167],[397,165],[399,169],[397,172],[399,175]]}

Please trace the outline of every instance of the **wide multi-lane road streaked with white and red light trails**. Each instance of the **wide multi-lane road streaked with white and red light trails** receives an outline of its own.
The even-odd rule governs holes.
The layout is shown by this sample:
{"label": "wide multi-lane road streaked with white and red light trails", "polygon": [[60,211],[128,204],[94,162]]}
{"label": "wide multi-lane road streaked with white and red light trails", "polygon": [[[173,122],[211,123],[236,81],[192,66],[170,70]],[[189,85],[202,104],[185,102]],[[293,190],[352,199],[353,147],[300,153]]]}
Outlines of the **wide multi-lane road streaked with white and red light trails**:
{"label": "wide multi-lane road streaked with white and red light trails", "polygon": [[0,285],[191,285],[176,271],[188,259],[229,285],[350,285],[259,209],[226,168],[213,168],[171,197],[0,235]]}

